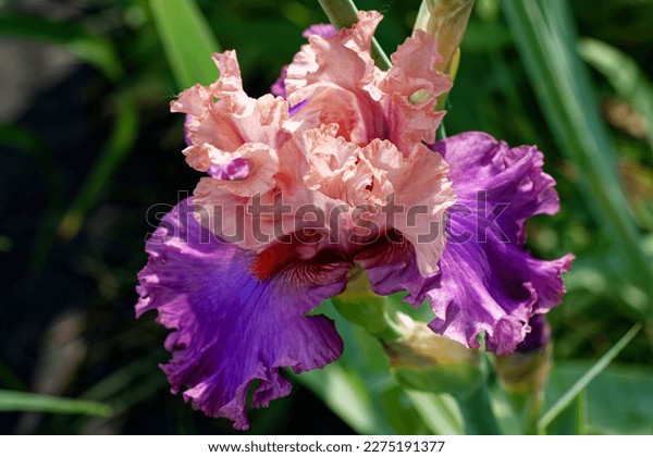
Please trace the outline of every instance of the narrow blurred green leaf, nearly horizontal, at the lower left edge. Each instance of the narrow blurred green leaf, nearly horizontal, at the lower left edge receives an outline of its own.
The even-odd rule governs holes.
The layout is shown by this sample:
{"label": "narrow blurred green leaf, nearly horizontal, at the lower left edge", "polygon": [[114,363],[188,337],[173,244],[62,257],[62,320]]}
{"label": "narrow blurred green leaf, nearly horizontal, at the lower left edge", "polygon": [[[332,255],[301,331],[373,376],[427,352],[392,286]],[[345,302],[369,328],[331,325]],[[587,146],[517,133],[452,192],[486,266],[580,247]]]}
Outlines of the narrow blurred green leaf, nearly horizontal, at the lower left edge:
{"label": "narrow blurred green leaf, nearly horizontal, at the lower left edge", "polygon": [[74,398],[0,390],[0,411],[39,411],[110,417],[108,405]]}

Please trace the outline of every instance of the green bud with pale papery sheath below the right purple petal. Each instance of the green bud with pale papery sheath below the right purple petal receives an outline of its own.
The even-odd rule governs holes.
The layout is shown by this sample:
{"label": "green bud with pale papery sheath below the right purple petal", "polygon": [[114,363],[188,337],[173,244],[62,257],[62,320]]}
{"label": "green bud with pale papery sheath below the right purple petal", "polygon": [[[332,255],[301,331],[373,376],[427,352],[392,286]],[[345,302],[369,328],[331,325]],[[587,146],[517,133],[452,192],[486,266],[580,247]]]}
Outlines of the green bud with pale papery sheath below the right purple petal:
{"label": "green bud with pale papery sheath below the right purple petal", "polygon": [[480,353],[398,314],[403,337],[384,344],[390,368],[407,388],[466,397],[484,380]]}

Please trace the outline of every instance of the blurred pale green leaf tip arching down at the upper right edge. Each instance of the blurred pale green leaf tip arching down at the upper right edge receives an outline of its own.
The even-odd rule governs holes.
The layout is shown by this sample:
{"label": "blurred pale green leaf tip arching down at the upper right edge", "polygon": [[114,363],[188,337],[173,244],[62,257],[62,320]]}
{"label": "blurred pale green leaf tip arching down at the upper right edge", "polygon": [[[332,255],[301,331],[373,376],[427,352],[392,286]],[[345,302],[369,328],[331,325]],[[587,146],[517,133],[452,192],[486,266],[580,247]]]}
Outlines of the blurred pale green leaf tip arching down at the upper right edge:
{"label": "blurred pale green leaf tip arching down at the upper right edge", "polygon": [[646,138],[653,147],[653,86],[636,61],[617,48],[593,38],[581,39],[578,51],[645,119]]}

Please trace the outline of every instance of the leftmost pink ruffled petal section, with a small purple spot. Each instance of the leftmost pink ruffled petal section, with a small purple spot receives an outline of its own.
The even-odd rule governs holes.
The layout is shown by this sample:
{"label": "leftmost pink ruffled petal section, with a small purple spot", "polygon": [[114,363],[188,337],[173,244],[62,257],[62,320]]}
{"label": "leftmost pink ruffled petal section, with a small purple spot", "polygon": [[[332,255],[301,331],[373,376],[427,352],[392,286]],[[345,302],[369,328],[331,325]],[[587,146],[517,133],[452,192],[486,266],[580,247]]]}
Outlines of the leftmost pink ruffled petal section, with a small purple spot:
{"label": "leftmost pink ruffled petal section, with a small purple spot", "polygon": [[[276,185],[279,151],[291,138],[285,127],[289,106],[272,95],[248,97],[235,51],[214,54],[213,60],[220,78],[209,87],[184,90],[171,111],[187,114],[186,162],[211,176],[201,178],[194,193],[196,205],[205,209],[201,223],[215,234],[236,234],[238,207]],[[241,244],[260,245],[251,236]]]}

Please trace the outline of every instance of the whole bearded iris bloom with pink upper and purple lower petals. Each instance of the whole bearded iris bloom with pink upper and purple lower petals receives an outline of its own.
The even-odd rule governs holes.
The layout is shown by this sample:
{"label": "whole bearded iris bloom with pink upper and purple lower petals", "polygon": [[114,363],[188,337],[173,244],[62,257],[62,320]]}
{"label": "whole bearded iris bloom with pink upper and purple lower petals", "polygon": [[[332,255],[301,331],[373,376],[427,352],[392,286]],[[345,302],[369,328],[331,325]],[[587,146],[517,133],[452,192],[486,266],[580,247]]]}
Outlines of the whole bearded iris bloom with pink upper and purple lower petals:
{"label": "whole bearded iris bloom with pink upper and purple lower petals", "polygon": [[[246,400],[288,395],[280,370],[336,360],[333,322],[308,314],[345,289],[353,269],[372,291],[405,291],[434,311],[430,328],[496,354],[557,305],[570,256],[538,260],[523,222],[558,210],[535,147],[483,133],[435,141],[436,42],[417,30],[381,71],[370,55],[381,14],[337,33],[309,29],[271,94],[243,89],[235,51],[220,78],[172,102],[187,115],[186,162],[205,174],[148,239],[138,316],[172,333],[162,367],[173,392],[246,429]],[[430,146],[429,146],[430,145]]]}

